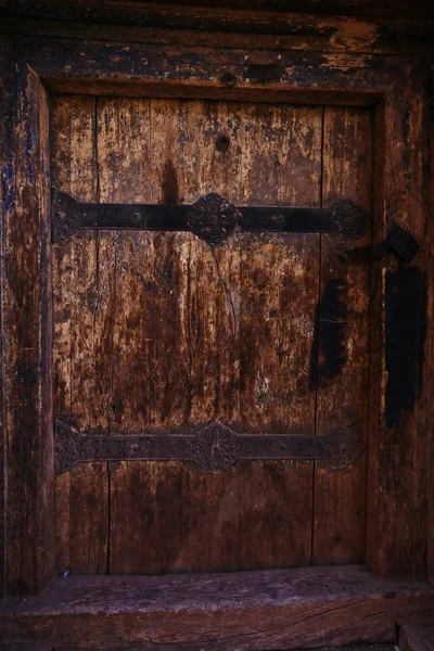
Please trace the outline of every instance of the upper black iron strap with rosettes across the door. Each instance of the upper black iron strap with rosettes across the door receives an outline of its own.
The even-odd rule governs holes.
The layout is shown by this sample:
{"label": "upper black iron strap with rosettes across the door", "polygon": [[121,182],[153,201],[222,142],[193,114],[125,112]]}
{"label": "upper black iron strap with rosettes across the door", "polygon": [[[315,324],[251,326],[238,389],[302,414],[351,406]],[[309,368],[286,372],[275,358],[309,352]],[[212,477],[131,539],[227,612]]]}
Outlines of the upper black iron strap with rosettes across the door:
{"label": "upper black iron strap with rosettes across the door", "polygon": [[192,231],[210,246],[237,231],[330,233],[353,242],[370,226],[368,213],[349,200],[330,208],[290,206],[234,206],[216,193],[192,205],[79,203],[52,189],[52,241],[81,229]]}

